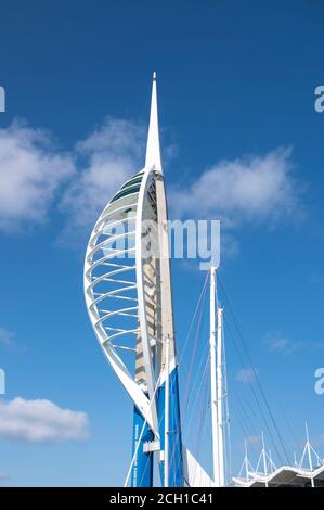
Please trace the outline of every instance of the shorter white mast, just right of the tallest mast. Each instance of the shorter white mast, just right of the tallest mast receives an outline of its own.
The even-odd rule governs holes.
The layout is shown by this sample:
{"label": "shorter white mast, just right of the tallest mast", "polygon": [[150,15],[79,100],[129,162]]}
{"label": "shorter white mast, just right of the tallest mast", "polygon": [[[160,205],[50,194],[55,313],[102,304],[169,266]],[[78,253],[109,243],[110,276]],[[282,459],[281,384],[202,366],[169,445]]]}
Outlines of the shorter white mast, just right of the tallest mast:
{"label": "shorter white mast, just right of the tallest mast", "polygon": [[219,444],[219,482],[225,485],[224,472],[224,438],[223,438],[223,310],[217,307],[217,421]]}

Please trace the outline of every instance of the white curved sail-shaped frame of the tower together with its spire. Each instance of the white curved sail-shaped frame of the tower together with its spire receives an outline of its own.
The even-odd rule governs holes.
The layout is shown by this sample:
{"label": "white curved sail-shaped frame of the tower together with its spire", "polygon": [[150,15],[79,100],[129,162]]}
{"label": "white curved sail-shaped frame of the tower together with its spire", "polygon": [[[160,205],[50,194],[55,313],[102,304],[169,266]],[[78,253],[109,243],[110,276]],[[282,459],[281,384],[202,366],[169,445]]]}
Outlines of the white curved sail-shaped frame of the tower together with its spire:
{"label": "white curved sail-shaped frame of the tower together with its spire", "polygon": [[[152,336],[152,327],[148,328],[148,322],[152,317],[148,316],[148,304],[147,304],[147,280],[150,276],[147,271],[144,271],[143,264],[145,260],[145,254],[143,253],[143,219],[147,212],[148,189],[152,184],[155,184],[161,176],[161,162],[160,162],[160,149],[159,149],[159,135],[158,135],[158,115],[157,115],[157,99],[156,99],[156,76],[153,76],[153,88],[152,88],[152,101],[151,101],[151,114],[150,114],[150,126],[147,136],[146,146],[146,158],[145,167],[137,176],[142,175],[140,189],[137,190],[134,183],[130,183],[132,179],[137,178],[133,176],[127,183],[121,187],[121,190],[128,188],[129,193],[124,196],[113,197],[107,204],[102,214],[100,215],[88,243],[86,259],[85,259],[85,295],[86,305],[89,314],[89,318],[96,335],[96,339],[109,361],[113,370],[116,372],[124,387],[132,398],[134,405],[142,413],[143,418],[147,421],[147,424],[152,432],[155,434],[155,438],[159,438],[158,434],[158,420],[156,409],[156,379],[158,374],[155,373],[155,368],[158,365],[158,369],[161,370],[161,360],[159,362],[153,362],[153,353],[158,352],[159,357],[161,356],[161,346],[157,348],[155,346],[163,339],[156,339]],[[158,177],[159,176],[159,177]],[[129,184],[129,186],[127,186]],[[159,190],[160,190],[159,186]],[[120,191],[121,191],[120,190]],[[160,195],[160,191],[159,191]],[[164,195],[164,192],[163,192]],[[135,214],[129,218],[122,217],[122,214],[128,209],[135,209]],[[153,209],[152,209],[153,211]],[[153,211],[157,216],[157,212]],[[161,207],[161,217],[165,216],[165,206]],[[111,217],[115,217],[113,221],[109,221]],[[118,224],[134,221],[135,228],[127,231],[126,233],[117,235],[108,235],[106,233],[107,222],[108,228],[118,226]],[[106,239],[101,241],[101,238],[105,235]],[[109,247],[109,253],[106,254],[107,246],[113,244],[115,241],[121,240],[126,242],[126,245],[131,239],[134,239],[134,247],[124,250],[115,250]],[[156,238],[158,245],[160,245],[160,238]],[[96,258],[99,254],[103,252],[103,256]],[[134,264],[126,265],[122,264],[122,258],[128,255],[134,255]],[[146,264],[146,263],[145,263]],[[150,263],[148,263],[150,265]],[[109,269],[106,270],[106,267]],[[98,277],[96,271],[102,270],[102,273]],[[155,282],[150,282],[153,289],[154,302],[156,304],[156,310],[158,310],[158,297],[157,297],[157,281],[158,275],[156,273],[156,267],[153,269]],[[121,275],[128,275],[128,280],[122,280]],[[166,278],[169,278],[169,273],[165,271]],[[115,278],[118,276],[118,280]],[[105,284],[106,289],[104,292],[98,292],[96,285]],[[115,289],[111,286],[117,285]],[[158,281],[158,285],[160,281]],[[170,285],[170,283],[164,282],[164,285]],[[130,297],[127,295],[128,291],[137,293],[137,297]],[[146,292],[146,294],[145,294]],[[167,293],[168,294],[168,293]],[[169,295],[169,294],[168,294]],[[105,309],[104,303],[107,299],[120,299],[121,302],[128,302],[127,306],[120,306],[116,309]],[[152,299],[152,296],[150,297]],[[165,299],[166,301],[166,299]],[[152,303],[151,303],[152,305]],[[170,313],[171,306],[166,306],[167,313]],[[159,313],[159,311],[158,311]],[[157,313],[157,315],[158,315]],[[118,318],[118,327],[113,326],[109,320]],[[137,323],[135,328],[128,326],[128,319],[132,319]],[[158,319],[156,319],[158,323]],[[172,323],[172,321],[171,321]],[[156,326],[156,324],[155,324]],[[159,327],[156,326],[158,329]],[[171,328],[172,329],[172,328]],[[170,328],[169,328],[170,330]],[[140,342],[140,353],[137,348],[129,343],[125,345],[116,345],[115,341],[125,340],[129,341],[130,336],[137,339]],[[155,348],[155,350],[154,350]],[[133,373],[130,373],[127,368],[126,359],[122,359],[122,354],[117,350],[121,349],[121,353],[135,352],[143,355],[143,370],[142,366],[139,368],[141,372],[145,372],[143,381],[139,377],[138,381]],[[155,365],[155,367],[154,367]]]}

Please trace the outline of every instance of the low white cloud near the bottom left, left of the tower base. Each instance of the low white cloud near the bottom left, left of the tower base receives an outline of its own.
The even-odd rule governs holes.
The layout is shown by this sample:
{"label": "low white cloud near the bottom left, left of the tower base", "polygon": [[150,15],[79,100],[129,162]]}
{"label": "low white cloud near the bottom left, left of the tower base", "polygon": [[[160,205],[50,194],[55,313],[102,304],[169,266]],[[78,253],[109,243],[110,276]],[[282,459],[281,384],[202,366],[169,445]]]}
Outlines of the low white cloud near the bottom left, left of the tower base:
{"label": "low white cloud near the bottom left, left of the tower base", "polygon": [[82,441],[89,436],[85,412],[62,409],[50,400],[0,400],[0,436],[30,443]]}

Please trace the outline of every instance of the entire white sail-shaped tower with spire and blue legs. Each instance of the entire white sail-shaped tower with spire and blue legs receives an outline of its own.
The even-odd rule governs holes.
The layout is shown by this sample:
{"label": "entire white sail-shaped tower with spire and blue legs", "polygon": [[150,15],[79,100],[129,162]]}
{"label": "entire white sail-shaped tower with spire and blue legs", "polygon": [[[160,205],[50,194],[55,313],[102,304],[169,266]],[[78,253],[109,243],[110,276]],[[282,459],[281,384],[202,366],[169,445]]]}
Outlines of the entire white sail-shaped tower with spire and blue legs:
{"label": "entire white sail-shaped tower with spire and blue legs", "polygon": [[145,166],[103,209],[85,260],[94,333],[134,404],[133,486],[152,485],[154,452],[163,484],[183,485],[167,219],[154,73]]}

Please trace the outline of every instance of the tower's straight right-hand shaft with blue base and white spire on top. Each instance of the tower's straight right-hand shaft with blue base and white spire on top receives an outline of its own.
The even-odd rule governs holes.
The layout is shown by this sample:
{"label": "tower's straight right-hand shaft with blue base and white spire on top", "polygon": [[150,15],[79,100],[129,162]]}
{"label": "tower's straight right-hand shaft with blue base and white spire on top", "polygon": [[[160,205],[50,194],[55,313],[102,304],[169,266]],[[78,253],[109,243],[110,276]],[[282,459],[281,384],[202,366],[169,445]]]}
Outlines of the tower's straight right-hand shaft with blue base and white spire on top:
{"label": "tower's straight right-hand shaft with blue base and white spire on top", "polygon": [[178,364],[173,328],[170,246],[168,232],[168,209],[163,176],[159,143],[156,73],[153,73],[152,99],[145,157],[145,174],[154,175],[159,278],[157,290],[157,322],[155,335],[161,342],[157,345],[156,372],[161,381],[157,391],[159,423],[159,468],[165,487],[183,486],[182,435],[180,398],[178,387]]}

